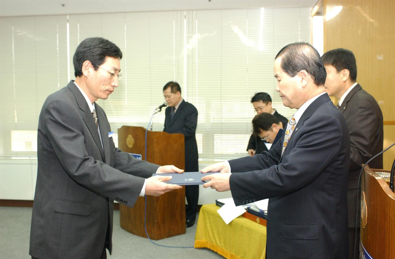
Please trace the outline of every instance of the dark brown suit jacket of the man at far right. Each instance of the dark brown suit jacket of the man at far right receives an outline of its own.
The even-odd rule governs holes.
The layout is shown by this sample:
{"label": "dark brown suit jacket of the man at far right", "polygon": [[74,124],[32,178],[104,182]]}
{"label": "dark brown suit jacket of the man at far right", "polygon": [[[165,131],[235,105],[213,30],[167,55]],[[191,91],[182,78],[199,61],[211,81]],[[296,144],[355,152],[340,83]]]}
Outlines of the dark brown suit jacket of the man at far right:
{"label": "dark brown suit jacket of the man at far right", "polygon": [[[357,184],[362,164],[383,151],[383,114],[376,100],[357,84],[344,98],[339,111],[346,119],[350,131],[351,156],[348,180],[348,227],[355,227],[355,212],[358,207]],[[369,167],[382,169],[381,154],[369,163]],[[361,186],[359,185],[359,188]],[[358,223],[359,226],[358,216]]]}

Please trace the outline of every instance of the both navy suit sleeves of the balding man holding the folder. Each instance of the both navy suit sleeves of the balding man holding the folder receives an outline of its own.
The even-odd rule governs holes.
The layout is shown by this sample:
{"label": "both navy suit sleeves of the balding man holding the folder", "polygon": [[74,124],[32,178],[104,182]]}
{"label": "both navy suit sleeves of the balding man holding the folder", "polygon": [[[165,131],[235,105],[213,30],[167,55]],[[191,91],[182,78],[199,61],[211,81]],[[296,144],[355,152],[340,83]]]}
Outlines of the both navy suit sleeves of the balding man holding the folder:
{"label": "both navy suit sleeves of the balding man holding the folder", "polygon": [[313,116],[299,129],[295,147],[284,151],[278,165],[267,168],[281,154],[281,141],[269,152],[229,161],[232,172],[232,165],[235,170],[245,172],[232,173],[229,179],[236,205],[249,199],[279,197],[299,190],[312,183],[335,160],[342,141],[342,126],[330,114]]}

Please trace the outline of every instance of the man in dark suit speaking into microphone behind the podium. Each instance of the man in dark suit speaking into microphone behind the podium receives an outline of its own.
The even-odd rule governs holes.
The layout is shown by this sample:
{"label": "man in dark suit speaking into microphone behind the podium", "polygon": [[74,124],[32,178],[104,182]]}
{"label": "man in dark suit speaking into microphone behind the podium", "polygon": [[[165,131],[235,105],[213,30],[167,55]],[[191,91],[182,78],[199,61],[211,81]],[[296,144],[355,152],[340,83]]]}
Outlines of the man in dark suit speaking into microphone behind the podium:
{"label": "man in dark suit speaking into microphone behind the podium", "polygon": [[[198,124],[198,110],[194,105],[184,101],[181,97],[181,87],[177,82],[170,81],[163,87],[163,95],[168,107],[165,112],[165,127],[167,133],[184,134],[185,142],[185,171],[197,172],[198,144],[196,143],[196,126]],[[186,227],[192,227],[196,220],[199,201],[199,186],[185,186],[186,205]]]}

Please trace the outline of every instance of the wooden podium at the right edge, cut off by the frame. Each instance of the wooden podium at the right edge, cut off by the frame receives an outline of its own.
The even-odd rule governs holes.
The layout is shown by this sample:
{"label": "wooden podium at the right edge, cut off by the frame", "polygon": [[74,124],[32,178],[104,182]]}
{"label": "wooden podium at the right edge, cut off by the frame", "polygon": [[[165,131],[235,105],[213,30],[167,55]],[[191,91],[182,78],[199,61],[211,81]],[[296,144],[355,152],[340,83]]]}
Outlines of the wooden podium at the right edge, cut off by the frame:
{"label": "wooden podium at the right edge, cut off by the frame", "polygon": [[[395,258],[395,193],[389,183],[365,167],[361,185],[360,258]],[[369,257],[369,254],[371,257]]]}

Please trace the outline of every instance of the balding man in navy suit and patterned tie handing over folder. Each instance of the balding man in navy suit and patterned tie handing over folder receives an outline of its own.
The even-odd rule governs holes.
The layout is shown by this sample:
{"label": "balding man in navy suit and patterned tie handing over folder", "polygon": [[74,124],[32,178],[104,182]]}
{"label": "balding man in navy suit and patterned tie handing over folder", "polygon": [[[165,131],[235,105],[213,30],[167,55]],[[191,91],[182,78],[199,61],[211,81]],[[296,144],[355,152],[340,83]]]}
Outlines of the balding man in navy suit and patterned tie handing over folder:
{"label": "balding man in navy suit and patterned tie handing over folder", "polygon": [[209,165],[204,187],[231,190],[236,205],[269,198],[268,259],[346,259],[350,137],[324,83],[320,55],[291,43],[276,55],[276,91],[297,109],[269,152]]}

